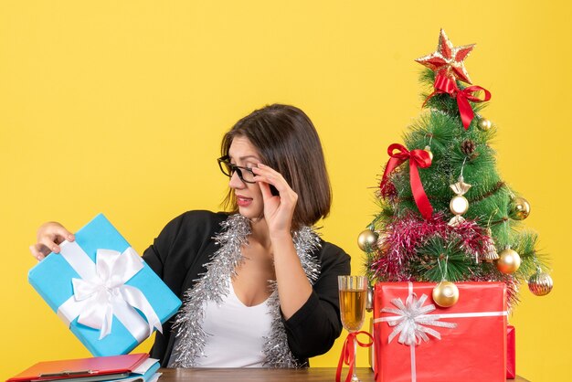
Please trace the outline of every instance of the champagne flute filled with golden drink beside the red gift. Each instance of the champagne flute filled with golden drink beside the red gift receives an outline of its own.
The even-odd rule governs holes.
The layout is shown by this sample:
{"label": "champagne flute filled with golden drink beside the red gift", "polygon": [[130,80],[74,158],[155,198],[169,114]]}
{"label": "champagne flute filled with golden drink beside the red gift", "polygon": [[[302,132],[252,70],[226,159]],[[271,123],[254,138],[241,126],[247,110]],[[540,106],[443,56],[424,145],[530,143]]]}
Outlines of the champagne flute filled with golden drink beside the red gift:
{"label": "champagne flute filled with golden drink beside the red gift", "polygon": [[[340,313],[345,330],[357,332],[364,324],[365,300],[367,298],[367,278],[365,276],[338,276],[338,291],[340,292]],[[352,382],[359,382],[355,375],[355,351],[357,344],[354,340],[354,373]]]}

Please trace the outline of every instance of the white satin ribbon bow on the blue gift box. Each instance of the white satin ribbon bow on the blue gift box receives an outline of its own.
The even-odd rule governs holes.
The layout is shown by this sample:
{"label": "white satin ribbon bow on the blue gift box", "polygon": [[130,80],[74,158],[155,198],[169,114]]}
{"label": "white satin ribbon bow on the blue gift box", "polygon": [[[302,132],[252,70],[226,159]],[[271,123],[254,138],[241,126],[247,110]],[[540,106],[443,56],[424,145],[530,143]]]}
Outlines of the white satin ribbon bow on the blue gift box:
{"label": "white satin ribbon bow on the blue gift box", "polygon": [[154,328],[162,332],[161,320],[143,292],[125,284],[143,269],[143,260],[131,247],[123,253],[98,249],[95,263],[75,241],[65,241],[60,248],[61,255],[81,277],[71,280],[74,294],[58,307],[58,316],[64,322],[69,325],[78,318],[79,324],[100,330],[100,339],[111,333],[113,316],[138,342],[151,335]]}

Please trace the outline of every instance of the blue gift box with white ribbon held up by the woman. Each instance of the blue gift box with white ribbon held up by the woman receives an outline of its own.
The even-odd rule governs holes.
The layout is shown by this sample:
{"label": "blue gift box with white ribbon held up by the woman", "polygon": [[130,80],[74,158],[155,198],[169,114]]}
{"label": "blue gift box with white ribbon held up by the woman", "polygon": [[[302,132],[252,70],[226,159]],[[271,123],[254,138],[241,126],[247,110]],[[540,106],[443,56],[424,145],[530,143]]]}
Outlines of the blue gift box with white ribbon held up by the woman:
{"label": "blue gift box with white ribbon held up by the woman", "polygon": [[[58,313],[58,315],[65,315],[61,313],[63,306],[66,306],[69,303],[76,304],[81,302],[77,302],[80,300],[80,298],[78,298],[78,292],[80,288],[77,282],[84,281],[84,279],[82,279],[79,273],[82,273],[83,275],[89,274],[90,272],[95,273],[94,270],[95,263],[98,260],[97,257],[101,256],[101,259],[103,259],[103,256],[98,254],[98,250],[100,250],[101,253],[101,249],[107,249],[108,252],[110,250],[117,251],[121,253],[121,255],[117,253],[117,255],[120,257],[127,256],[127,254],[131,255],[131,263],[136,267],[136,270],[132,271],[132,273],[134,272],[134,275],[129,278],[129,280],[124,281],[124,290],[127,290],[127,292],[118,292],[117,290],[111,291],[109,296],[126,294],[128,295],[128,297],[125,298],[126,301],[131,302],[132,297],[130,296],[135,294],[137,297],[139,297],[139,300],[146,300],[144,305],[151,309],[151,313],[153,313],[149,315],[155,317],[155,319],[158,318],[161,323],[167,321],[177,312],[181,306],[181,301],[177,298],[175,293],[171,292],[171,290],[164,284],[164,282],[151,268],[149,268],[149,266],[140,257],[132,255],[133,252],[130,252],[132,249],[129,243],[123,239],[122,235],[102,214],[93,218],[93,220],[91,220],[90,223],[88,223],[85,227],[79,229],[79,231],[75,234],[75,237],[76,239],[74,242],[64,242],[60,245],[61,253],[68,253],[69,250],[66,248],[72,247],[76,249],[79,248],[80,251],[82,250],[82,252],[85,252],[81,256],[76,256],[74,254],[74,256],[71,258],[69,258],[68,254],[67,256],[71,264],[68,260],[66,260],[64,255],[51,253],[45,260],[40,261],[28,273],[28,281],[30,284],[32,284],[34,289],[36,289],[42,298],[48,302],[48,305],[52,308],[52,310]],[[86,261],[88,260],[88,257],[91,262]],[[76,260],[82,259],[84,260],[83,267],[86,268],[86,263],[89,263],[93,270],[88,270],[90,272],[87,273],[85,271],[77,271],[79,268],[77,265],[75,265],[75,262]],[[122,258],[122,260],[125,259],[127,258]],[[105,273],[105,270],[102,271],[102,273]],[[111,279],[116,278],[116,276],[121,277],[124,275],[111,275]],[[75,296],[74,287],[76,289]],[[113,299],[115,297],[109,298]],[[123,301],[123,299],[121,301]],[[141,341],[143,341],[144,338],[147,338],[149,335],[151,335],[150,330],[152,331],[153,328],[149,327],[148,322],[153,323],[153,321],[145,315],[145,312],[148,313],[149,309],[145,310],[144,307],[142,308],[137,303],[132,304],[134,308],[127,306],[127,302],[122,302],[121,304],[125,305],[129,310],[131,310],[131,312],[128,313],[131,313],[132,318],[136,319],[127,320],[129,322],[125,323],[125,315],[123,314],[122,320],[120,320],[116,314],[125,313],[126,308],[120,306],[121,309],[113,309],[112,319],[111,315],[109,316],[111,332],[109,331],[108,325],[108,332],[110,333],[103,336],[102,338],[101,329],[96,329],[87,326],[86,324],[79,324],[78,317],[68,317],[68,319],[64,318],[64,321],[69,321],[69,329],[71,332],[75,334],[81,343],[90,350],[92,355],[105,356],[127,354],[132,351],[132,349]],[[80,313],[85,313],[89,310],[90,309],[83,307],[80,309]],[[96,315],[98,313],[101,314],[101,309],[92,310]],[[156,316],[154,314],[156,314]],[[124,323],[122,323],[122,321]],[[124,324],[128,324],[130,327],[128,328]],[[140,326],[143,324],[143,328],[137,328],[136,324],[140,324]],[[135,326],[134,330],[133,326]],[[144,333],[143,338],[142,333]],[[139,338],[136,338],[136,336]]]}

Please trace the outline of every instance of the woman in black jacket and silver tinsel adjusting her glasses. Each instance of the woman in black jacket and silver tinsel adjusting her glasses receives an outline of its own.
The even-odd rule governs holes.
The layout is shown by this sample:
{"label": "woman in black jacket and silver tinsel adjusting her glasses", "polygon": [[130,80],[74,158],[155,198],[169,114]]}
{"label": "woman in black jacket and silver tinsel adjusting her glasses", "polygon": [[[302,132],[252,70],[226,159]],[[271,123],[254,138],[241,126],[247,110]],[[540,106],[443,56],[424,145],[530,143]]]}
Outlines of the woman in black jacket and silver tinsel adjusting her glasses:
{"label": "woman in black jacket and silver tinsel adjusting her glasses", "polygon": [[[308,116],[281,104],[239,120],[217,159],[226,212],[188,211],[143,259],[184,302],[151,355],[170,367],[300,367],[342,330],[337,276],[350,258],[312,228],[330,211],[320,139]],[[73,234],[48,222],[32,255]]]}

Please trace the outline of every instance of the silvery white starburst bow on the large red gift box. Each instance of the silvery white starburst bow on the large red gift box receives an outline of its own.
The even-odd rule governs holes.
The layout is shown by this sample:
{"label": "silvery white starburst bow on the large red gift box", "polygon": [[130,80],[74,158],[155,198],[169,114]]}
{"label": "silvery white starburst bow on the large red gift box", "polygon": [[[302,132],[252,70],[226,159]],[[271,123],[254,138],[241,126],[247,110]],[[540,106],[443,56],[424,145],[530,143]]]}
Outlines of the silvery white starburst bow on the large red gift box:
{"label": "silvery white starburst bow on the large red gift box", "polygon": [[421,298],[418,299],[415,293],[411,293],[408,295],[405,303],[403,303],[400,298],[391,300],[391,303],[393,303],[397,309],[387,307],[381,310],[381,312],[397,314],[392,317],[383,317],[380,320],[387,321],[389,326],[395,326],[395,329],[387,338],[388,342],[391,342],[396,335],[399,334],[399,338],[397,339],[399,344],[409,346],[418,345],[421,341],[428,342],[429,335],[441,339],[441,334],[438,331],[426,325],[446,328],[454,328],[457,326],[457,324],[454,323],[440,322],[439,314],[427,315],[427,313],[433,312],[436,309],[432,303],[423,306],[427,299],[427,294],[421,295]]}

